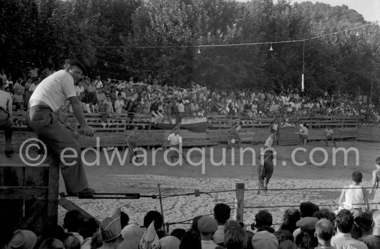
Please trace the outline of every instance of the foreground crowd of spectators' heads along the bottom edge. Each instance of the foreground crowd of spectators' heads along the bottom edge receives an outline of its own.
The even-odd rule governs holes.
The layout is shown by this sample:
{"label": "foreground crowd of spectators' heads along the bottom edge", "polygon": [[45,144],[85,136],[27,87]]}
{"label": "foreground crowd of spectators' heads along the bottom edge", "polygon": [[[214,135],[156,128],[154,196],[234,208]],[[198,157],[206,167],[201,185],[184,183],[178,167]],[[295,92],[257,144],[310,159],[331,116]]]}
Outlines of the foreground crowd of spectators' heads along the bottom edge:
{"label": "foreground crowd of spectators' heads along the bottom edge", "polygon": [[101,223],[84,219],[79,211],[66,213],[63,227],[46,236],[29,230],[1,233],[1,248],[10,249],[374,249],[380,248],[380,211],[360,215],[342,209],[332,212],[311,202],[285,211],[281,226],[274,228],[272,215],[260,210],[246,226],[231,219],[231,208],[218,203],[213,217],[194,217],[188,230],[163,228],[160,212],[146,213],[141,225],[130,222],[118,208]]}

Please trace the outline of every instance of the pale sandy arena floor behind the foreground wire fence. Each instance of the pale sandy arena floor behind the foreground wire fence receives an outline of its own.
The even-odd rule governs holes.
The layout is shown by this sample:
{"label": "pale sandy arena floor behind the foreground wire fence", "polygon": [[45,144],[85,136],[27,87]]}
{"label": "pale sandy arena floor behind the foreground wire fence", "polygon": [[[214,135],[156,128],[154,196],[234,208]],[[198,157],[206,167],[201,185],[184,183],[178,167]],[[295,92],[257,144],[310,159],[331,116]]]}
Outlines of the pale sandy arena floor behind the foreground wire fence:
{"label": "pale sandy arena floor behind the foreground wire fence", "polygon": [[[332,166],[332,144],[326,147],[324,141],[312,142],[306,146],[307,152],[297,152],[296,161],[306,161],[305,166],[296,166],[292,162],[292,151],[299,146],[276,146],[277,165],[274,168],[274,175],[269,182],[269,192],[267,195],[257,195],[256,191],[245,192],[245,206],[296,206],[301,201],[312,201],[323,206],[334,204],[339,200],[341,190],[339,188],[348,186],[353,171],[363,172],[363,186],[371,185],[371,172],[374,169],[374,159],[380,156],[380,143],[364,143],[359,141],[339,141],[336,146],[341,148],[357,148],[359,150],[359,166],[356,166],[357,156],[354,152],[348,153],[348,163],[344,163],[343,152],[336,154],[336,166]],[[222,148],[225,146],[213,147],[214,161],[222,159]],[[244,147],[249,147],[245,144]],[[260,146],[250,146],[254,148],[257,155],[260,155]],[[324,166],[314,166],[310,162],[310,151],[320,147],[327,151],[328,159]],[[259,161],[254,159],[256,166],[252,166],[253,157],[249,152],[244,155],[243,166],[240,166],[240,156],[235,152],[236,165],[231,166],[231,152],[226,155],[225,166],[212,166],[210,163],[210,148],[206,148],[205,174],[202,174],[201,166],[167,166],[163,160],[163,152],[156,154],[156,166],[152,166],[151,152],[148,152],[147,166],[134,166],[131,163],[120,165],[118,160],[114,160],[112,165],[107,166],[106,157],[101,153],[100,166],[86,166],[86,172],[90,186],[97,192],[131,192],[142,195],[158,195],[158,183],[162,186],[162,193],[165,195],[182,194],[194,192],[199,189],[201,192],[213,190],[234,190],[235,183],[245,183],[245,188],[258,188],[257,165]],[[111,155],[108,151],[108,156]],[[193,152],[192,160],[200,161],[198,152]],[[95,153],[87,152],[88,162],[95,160]],[[316,162],[323,161],[323,152],[314,153],[313,159]],[[19,161],[19,156],[12,159],[1,159],[5,163]],[[283,163],[285,161],[286,163]],[[286,164],[286,165],[285,165]],[[283,166],[285,165],[285,166]],[[60,191],[64,191],[64,184],[60,180]],[[297,191],[270,191],[271,188],[337,188],[336,190],[297,190]],[[212,197],[211,197],[212,196]],[[165,222],[177,222],[191,219],[197,215],[204,215],[213,212],[216,203],[224,202],[234,206],[234,192],[201,195],[200,197],[173,197],[163,199]],[[149,210],[160,210],[158,199],[122,199],[122,200],[91,200],[74,199],[70,200],[84,208],[97,219],[111,215],[113,210],[119,206],[129,214],[131,221],[142,223],[142,219]],[[372,200],[370,200],[370,203]],[[336,206],[337,208],[337,206]],[[331,209],[336,209],[332,207]],[[249,224],[254,221],[254,215],[259,209],[245,209],[244,221]],[[265,208],[272,212],[274,223],[281,223],[283,212],[287,208]],[[64,210],[59,210],[59,220],[64,215]],[[234,213],[234,210],[232,211]],[[174,225],[184,227],[186,225]]]}

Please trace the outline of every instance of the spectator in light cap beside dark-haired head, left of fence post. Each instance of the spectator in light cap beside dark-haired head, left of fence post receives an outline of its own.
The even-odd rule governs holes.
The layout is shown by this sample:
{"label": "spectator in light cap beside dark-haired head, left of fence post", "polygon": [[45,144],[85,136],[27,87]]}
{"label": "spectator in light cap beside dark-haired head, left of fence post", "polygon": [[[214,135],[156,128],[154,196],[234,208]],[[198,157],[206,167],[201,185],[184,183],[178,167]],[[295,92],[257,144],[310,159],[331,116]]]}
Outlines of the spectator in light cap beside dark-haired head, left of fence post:
{"label": "spectator in light cap beside dark-haired head, left of fence post", "polygon": [[216,220],[209,216],[204,216],[199,219],[198,228],[200,231],[202,249],[215,249],[218,245],[213,242],[212,237],[214,232],[218,230],[218,223],[216,223]]}

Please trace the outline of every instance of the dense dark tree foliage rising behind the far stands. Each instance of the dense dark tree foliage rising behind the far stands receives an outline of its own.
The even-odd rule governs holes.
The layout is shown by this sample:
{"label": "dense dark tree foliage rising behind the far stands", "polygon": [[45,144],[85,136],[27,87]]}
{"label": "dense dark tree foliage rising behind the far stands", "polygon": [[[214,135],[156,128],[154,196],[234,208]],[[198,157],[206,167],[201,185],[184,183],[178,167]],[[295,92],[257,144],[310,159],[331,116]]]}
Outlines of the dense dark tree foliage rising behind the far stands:
{"label": "dense dark tree foliage rising behind the far stands", "polygon": [[[379,89],[379,26],[339,32],[368,24],[344,5],[287,0],[1,0],[1,10],[0,66],[15,74],[27,61],[57,67],[75,57],[91,68],[91,74],[151,74],[175,86],[195,81],[211,88],[299,88],[304,72],[305,86],[313,92],[365,93],[372,79]],[[323,36],[332,32],[337,33]],[[319,38],[308,40],[311,37]],[[301,41],[276,43],[293,40]],[[240,43],[261,44],[213,46]]]}

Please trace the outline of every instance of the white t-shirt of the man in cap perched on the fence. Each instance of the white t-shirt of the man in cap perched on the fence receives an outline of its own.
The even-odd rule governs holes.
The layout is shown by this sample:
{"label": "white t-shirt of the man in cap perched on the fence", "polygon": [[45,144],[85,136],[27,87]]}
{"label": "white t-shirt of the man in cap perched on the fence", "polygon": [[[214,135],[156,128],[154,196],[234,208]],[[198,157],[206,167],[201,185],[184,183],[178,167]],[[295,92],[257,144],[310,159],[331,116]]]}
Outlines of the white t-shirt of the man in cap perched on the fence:
{"label": "white t-shirt of the man in cap perched on the fence", "polygon": [[66,99],[75,96],[77,96],[77,92],[73,77],[65,70],[59,70],[38,84],[29,102],[31,103],[32,100],[44,101],[56,112]]}

